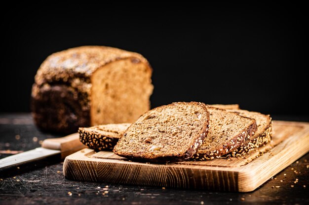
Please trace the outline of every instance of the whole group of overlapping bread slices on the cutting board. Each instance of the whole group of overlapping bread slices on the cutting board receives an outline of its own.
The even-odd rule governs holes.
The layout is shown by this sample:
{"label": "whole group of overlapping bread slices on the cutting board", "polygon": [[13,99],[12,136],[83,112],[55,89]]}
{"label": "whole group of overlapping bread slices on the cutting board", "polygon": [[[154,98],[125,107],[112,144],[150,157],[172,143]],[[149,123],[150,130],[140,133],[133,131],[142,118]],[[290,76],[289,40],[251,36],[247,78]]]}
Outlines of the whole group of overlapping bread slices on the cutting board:
{"label": "whole group of overlapping bread slices on the cutting board", "polygon": [[[189,157],[195,160],[238,157],[271,140],[270,116],[239,110],[238,105],[207,105],[209,133],[206,135],[205,132],[201,145],[197,143],[194,148],[188,148],[192,145],[191,141],[186,141],[188,129],[180,127],[186,122],[188,127],[194,128],[189,124],[194,124],[196,117],[199,120],[201,112],[194,113],[195,118],[187,112],[198,108],[194,107],[196,105],[204,106],[194,102],[161,106],[145,113],[131,126],[123,123],[79,128],[80,141],[96,150],[112,150],[122,137],[114,149],[116,154],[131,159],[167,162]],[[178,128],[177,124],[180,124]],[[189,132],[190,137],[191,134]]]}

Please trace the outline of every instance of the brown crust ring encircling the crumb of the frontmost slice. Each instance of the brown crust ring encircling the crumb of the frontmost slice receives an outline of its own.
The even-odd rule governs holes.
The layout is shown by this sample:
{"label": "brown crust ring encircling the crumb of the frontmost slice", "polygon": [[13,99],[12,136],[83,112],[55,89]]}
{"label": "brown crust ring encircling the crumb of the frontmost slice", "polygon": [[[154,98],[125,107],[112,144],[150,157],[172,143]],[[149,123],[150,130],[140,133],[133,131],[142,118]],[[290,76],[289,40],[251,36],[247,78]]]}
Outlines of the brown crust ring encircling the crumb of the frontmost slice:
{"label": "brown crust ring encircling the crumb of the frontmost slice", "polygon": [[[160,106],[160,107],[157,107],[157,108],[154,108],[153,110],[151,111],[157,111],[159,109],[161,109],[162,107],[166,107],[166,106],[174,106],[176,104],[179,104],[179,103],[185,103],[185,102],[176,102],[176,103],[172,103],[172,104],[169,104],[169,105],[163,105],[163,106]],[[204,103],[200,103],[200,102],[190,102],[188,104],[191,104],[191,105],[194,105],[194,106],[201,106],[202,109],[204,110],[204,112],[206,113],[206,118],[207,120],[204,121],[204,124],[203,124],[203,128],[202,130],[198,133],[198,136],[196,136],[196,139],[194,141],[194,143],[189,146],[187,148],[187,150],[184,152],[184,153],[181,153],[181,154],[177,154],[177,155],[174,155],[174,154],[164,154],[164,155],[152,155],[152,154],[149,154],[149,153],[127,153],[121,149],[119,149],[116,145],[114,147],[114,153],[119,155],[119,156],[122,156],[122,157],[126,157],[128,159],[132,159],[132,160],[135,160],[135,161],[143,161],[143,162],[152,162],[152,163],[167,163],[167,162],[176,162],[176,161],[183,161],[183,160],[187,160],[187,159],[190,159],[194,153],[196,152],[197,148],[202,144],[205,136],[208,134],[208,130],[209,130],[209,112],[207,111],[207,107]],[[149,112],[151,112],[149,111]],[[144,115],[142,115],[140,118],[148,115],[149,112],[146,112]],[[138,120],[137,120],[138,121]],[[126,132],[128,130],[131,129],[132,126],[134,126],[135,123],[131,124],[127,130],[125,131],[125,133],[123,134],[123,137],[126,136]],[[123,138],[122,137],[122,138]],[[121,141],[121,140],[120,140]],[[120,141],[118,141],[118,143],[120,143]]]}

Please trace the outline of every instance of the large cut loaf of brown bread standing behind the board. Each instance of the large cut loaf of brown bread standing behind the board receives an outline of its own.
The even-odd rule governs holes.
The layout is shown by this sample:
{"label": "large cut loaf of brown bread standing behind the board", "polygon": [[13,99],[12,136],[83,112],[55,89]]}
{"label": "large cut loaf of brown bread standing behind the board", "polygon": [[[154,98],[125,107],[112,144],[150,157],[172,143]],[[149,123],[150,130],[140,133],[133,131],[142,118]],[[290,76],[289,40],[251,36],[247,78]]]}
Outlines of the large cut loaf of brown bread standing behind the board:
{"label": "large cut loaf of brown bread standing behind the board", "polygon": [[50,55],[32,88],[39,128],[73,133],[78,127],[134,122],[150,109],[152,68],[140,54],[82,46]]}

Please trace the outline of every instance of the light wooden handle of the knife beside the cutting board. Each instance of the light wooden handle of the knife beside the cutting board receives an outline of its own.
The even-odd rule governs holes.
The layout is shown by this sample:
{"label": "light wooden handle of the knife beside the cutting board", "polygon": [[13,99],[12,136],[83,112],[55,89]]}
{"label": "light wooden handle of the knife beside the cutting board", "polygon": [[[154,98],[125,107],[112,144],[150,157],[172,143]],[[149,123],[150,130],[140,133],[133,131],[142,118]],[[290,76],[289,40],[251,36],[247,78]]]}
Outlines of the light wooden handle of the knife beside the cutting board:
{"label": "light wooden handle of the knife beside the cutting board", "polygon": [[80,149],[86,148],[87,146],[83,145],[79,141],[79,134],[74,133],[66,137],[46,139],[43,141],[42,147],[47,149],[60,150],[61,159],[64,159],[66,156],[73,154]]}

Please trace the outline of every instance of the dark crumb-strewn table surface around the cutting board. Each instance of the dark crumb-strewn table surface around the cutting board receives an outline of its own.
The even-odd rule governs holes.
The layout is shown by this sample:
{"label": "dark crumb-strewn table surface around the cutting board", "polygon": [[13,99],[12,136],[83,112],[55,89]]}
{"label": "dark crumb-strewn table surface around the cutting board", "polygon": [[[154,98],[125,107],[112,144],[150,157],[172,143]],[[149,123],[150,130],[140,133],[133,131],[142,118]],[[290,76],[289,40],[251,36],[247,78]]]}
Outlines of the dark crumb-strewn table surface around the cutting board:
{"label": "dark crumb-strewn table surface around the cutting board", "polygon": [[[308,116],[274,119],[308,121]],[[40,146],[42,140],[63,135],[40,132],[30,114],[0,114],[0,158]],[[0,175],[0,204],[309,204],[309,153],[249,193],[130,186],[71,181],[63,162],[39,161]],[[298,179],[298,182],[295,182]]]}

